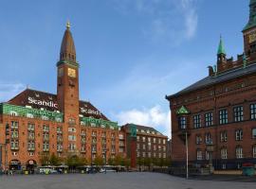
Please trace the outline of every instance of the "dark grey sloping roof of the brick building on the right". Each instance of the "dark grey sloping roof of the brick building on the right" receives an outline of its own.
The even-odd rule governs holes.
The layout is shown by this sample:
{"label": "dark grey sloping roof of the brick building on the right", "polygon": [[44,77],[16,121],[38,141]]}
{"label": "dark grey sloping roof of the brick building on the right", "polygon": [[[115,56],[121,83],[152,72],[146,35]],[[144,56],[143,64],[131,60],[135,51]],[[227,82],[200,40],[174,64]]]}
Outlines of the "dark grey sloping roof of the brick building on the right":
{"label": "dark grey sloping roof of the brick building on the right", "polygon": [[236,78],[236,77],[243,77],[243,76],[247,76],[247,75],[251,75],[251,74],[256,74],[256,63],[247,65],[246,68],[243,68],[243,67],[236,68],[235,70],[232,70],[230,72],[227,72],[223,75],[219,75],[216,77],[205,77],[205,78],[193,83],[191,86],[181,90],[180,92],[178,92],[176,94],[166,96],[166,98],[170,99],[170,98],[180,95],[180,94],[187,94],[192,91],[195,91],[198,89],[203,89],[203,88],[209,87],[209,86],[217,84],[217,83],[228,81],[228,80]]}

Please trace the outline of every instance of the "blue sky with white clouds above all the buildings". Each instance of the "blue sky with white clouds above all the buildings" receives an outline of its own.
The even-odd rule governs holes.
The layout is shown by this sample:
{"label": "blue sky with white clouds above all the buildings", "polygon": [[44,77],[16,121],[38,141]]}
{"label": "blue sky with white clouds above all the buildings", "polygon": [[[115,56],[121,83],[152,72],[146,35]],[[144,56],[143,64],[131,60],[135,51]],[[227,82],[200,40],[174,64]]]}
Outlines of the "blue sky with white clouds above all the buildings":
{"label": "blue sky with white clouds above all the buildings", "polygon": [[243,53],[249,0],[0,0],[0,102],[30,89],[56,94],[71,23],[80,96],[119,125],[171,136],[166,94],[207,77],[220,35]]}

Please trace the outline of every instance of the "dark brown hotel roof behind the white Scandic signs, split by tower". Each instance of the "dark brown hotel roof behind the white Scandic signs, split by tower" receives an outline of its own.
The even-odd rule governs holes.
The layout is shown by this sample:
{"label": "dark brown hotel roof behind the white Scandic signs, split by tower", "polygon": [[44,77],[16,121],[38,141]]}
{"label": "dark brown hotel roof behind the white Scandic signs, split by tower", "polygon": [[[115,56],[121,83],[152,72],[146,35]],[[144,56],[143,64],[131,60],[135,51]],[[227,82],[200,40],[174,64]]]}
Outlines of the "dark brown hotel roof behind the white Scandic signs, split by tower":
{"label": "dark brown hotel roof behind the white Scandic signs, split by tower", "polygon": [[[56,94],[48,94],[46,92],[40,92],[36,90],[27,89],[15,97],[11,98],[9,104],[16,106],[30,106],[33,109],[42,109],[46,111],[56,112],[59,111]],[[103,119],[109,121],[109,119],[101,113],[90,102],[80,101],[80,114],[84,117],[93,117],[96,119]]]}

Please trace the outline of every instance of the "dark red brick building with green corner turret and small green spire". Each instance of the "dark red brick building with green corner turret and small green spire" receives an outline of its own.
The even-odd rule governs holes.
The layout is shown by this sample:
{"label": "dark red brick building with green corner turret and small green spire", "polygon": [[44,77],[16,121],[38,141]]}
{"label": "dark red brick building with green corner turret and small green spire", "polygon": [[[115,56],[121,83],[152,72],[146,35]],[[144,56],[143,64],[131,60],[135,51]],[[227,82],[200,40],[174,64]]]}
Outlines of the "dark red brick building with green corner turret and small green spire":
{"label": "dark red brick building with green corner turret and small green spire", "polygon": [[[244,53],[228,59],[221,39],[216,66],[209,76],[166,96],[172,111],[172,158],[185,163],[185,133],[189,162],[216,169],[256,164],[256,1],[249,4],[243,29]],[[213,152],[207,146],[213,145]]]}

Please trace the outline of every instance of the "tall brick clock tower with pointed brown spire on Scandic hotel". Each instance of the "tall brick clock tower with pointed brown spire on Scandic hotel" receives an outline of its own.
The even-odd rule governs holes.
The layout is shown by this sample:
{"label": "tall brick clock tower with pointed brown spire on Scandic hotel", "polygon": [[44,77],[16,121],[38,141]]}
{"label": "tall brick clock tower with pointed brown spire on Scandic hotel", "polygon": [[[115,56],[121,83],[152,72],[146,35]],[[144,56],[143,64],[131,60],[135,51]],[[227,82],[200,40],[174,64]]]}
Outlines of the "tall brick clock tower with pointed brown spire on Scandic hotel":
{"label": "tall brick clock tower with pointed brown spire on Scandic hotel", "polygon": [[[79,139],[79,63],[76,60],[76,49],[70,31],[69,22],[66,24],[61,46],[60,60],[57,62],[57,100],[59,110],[64,113],[64,133],[68,140],[68,151],[75,152]],[[70,132],[71,131],[71,132]],[[71,141],[71,142],[70,142]]]}

